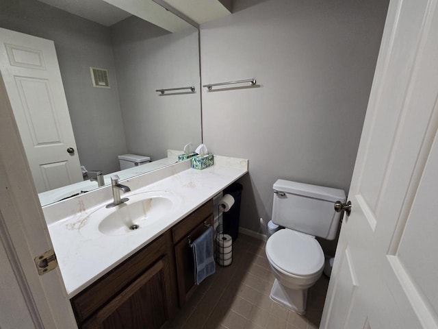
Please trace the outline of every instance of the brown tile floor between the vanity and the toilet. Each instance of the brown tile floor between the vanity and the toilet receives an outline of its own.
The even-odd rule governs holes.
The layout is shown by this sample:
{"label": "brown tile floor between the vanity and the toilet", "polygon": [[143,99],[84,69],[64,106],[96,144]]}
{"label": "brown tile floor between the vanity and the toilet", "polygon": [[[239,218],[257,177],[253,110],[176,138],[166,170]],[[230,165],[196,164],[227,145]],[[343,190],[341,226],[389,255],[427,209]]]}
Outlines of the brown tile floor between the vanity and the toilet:
{"label": "brown tile floor between the vanity and the toilet", "polygon": [[318,328],[329,279],[322,276],[311,287],[307,313],[298,315],[272,302],[274,282],[265,242],[239,234],[233,244],[233,263],[216,266],[168,328],[183,329],[310,329]]}

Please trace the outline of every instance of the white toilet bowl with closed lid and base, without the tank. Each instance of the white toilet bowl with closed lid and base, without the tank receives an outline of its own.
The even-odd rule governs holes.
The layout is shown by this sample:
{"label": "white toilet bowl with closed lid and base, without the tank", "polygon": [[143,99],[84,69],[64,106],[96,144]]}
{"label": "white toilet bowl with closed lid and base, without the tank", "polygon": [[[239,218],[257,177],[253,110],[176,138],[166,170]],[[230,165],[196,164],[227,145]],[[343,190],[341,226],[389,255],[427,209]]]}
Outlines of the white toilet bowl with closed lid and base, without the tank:
{"label": "white toilet bowl with closed lid and base, without the tank", "polygon": [[270,297],[304,314],[307,291],[324,270],[324,252],[314,236],[279,230],[266,243],[266,256],[276,278]]}

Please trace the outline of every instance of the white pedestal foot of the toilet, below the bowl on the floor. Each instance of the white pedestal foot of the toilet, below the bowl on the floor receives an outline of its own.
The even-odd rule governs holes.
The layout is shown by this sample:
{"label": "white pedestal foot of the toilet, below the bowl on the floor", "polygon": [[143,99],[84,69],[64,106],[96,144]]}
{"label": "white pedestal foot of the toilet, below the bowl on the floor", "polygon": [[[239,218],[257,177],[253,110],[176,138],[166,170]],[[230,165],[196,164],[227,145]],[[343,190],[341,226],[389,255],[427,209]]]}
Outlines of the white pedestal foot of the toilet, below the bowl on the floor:
{"label": "white pedestal foot of the toilet, below the bowl on the floor", "polygon": [[307,290],[308,289],[295,290],[287,288],[275,279],[275,282],[272,285],[270,298],[274,302],[282,304],[290,310],[302,315],[306,313]]}

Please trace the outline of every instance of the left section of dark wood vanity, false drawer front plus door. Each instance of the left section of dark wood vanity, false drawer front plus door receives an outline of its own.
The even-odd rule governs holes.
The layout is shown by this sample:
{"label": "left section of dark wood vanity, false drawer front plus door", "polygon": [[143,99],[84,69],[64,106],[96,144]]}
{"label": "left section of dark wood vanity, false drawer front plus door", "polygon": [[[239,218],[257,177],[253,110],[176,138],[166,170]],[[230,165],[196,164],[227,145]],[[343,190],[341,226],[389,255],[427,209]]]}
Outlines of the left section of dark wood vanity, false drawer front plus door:
{"label": "left section of dark wood vanity, false drawer front plus door", "polygon": [[170,231],[72,298],[79,328],[162,328],[177,307]]}

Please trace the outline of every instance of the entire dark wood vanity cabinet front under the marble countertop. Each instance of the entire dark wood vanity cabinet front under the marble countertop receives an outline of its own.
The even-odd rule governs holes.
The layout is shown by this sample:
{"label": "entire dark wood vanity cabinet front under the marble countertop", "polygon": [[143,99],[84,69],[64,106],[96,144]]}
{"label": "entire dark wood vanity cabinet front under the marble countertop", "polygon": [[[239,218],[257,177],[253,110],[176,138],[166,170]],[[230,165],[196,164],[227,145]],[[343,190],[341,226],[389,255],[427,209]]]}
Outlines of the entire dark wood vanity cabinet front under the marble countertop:
{"label": "entire dark wood vanity cabinet front under the marble countertop", "polygon": [[75,295],[70,302],[79,328],[164,328],[178,299],[182,306],[196,289],[187,238],[196,239],[213,219],[209,200]]}

